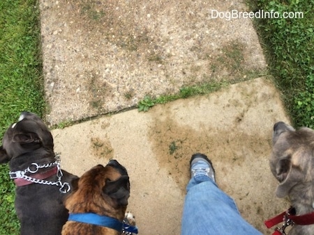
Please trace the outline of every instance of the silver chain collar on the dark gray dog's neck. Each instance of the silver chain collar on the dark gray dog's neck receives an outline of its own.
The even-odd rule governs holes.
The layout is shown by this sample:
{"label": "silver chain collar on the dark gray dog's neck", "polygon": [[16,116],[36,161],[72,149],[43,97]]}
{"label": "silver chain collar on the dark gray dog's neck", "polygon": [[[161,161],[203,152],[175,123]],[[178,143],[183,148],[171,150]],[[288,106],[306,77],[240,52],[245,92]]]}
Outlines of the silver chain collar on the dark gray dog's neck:
{"label": "silver chain collar on the dark gray dog's neck", "polygon": [[[24,179],[35,184],[55,185],[55,186],[59,186],[60,193],[68,193],[68,191],[70,191],[70,184],[68,184],[68,182],[64,182],[64,183],[61,182],[61,178],[63,177],[63,172],[60,168],[60,161],[61,161],[60,154],[55,153],[54,159],[56,159],[56,161],[52,163],[47,163],[44,165],[31,163],[31,165],[29,165],[29,167],[25,170],[17,170],[15,172],[9,172],[10,179]],[[36,174],[36,172],[38,172],[39,169],[50,168],[54,165],[57,166],[57,177],[58,177],[57,181],[52,182],[52,181],[47,181],[43,179],[36,179],[28,175],[25,175],[28,172],[31,174]]]}

